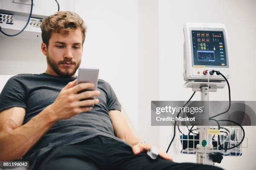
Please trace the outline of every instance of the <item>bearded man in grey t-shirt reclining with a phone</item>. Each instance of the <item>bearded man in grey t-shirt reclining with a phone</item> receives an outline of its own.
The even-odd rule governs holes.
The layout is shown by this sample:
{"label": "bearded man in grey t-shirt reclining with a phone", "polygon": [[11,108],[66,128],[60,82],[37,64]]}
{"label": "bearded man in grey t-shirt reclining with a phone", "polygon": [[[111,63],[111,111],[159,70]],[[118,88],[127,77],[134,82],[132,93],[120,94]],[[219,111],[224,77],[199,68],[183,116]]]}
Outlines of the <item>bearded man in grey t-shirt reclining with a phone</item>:
{"label": "bearded man in grey t-shirt reclining with a phone", "polygon": [[[0,160],[30,161],[31,169],[219,169],[174,163],[133,135],[111,86],[76,85],[86,27],[76,13],[59,11],[41,24],[47,70],[11,77],[0,95]],[[93,100],[81,100],[94,97]],[[94,105],[94,107],[84,107]]]}

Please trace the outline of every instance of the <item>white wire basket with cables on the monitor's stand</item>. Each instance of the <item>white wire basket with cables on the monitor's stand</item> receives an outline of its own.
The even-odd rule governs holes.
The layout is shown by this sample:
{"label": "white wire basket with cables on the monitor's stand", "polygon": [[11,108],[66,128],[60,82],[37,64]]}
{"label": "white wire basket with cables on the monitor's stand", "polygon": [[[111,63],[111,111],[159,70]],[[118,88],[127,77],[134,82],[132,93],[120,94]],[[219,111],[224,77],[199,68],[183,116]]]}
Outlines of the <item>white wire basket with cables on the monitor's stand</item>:
{"label": "white wire basket with cables on the monitor's stand", "polygon": [[[199,144],[199,133],[197,126],[176,126],[176,138],[174,139],[174,150],[178,154],[195,154],[197,144]],[[218,129],[218,126],[210,126],[211,129]],[[222,126],[220,127],[220,143],[218,135],[211,135],[213,150],[212,153],[220,153],[223,156],[241,156],[242,145],[238,145],[242,138],[243,132],[239,126]],[[233,149],[233,146],[237,147]],[[223,149],[224,148],[224,149]]]}

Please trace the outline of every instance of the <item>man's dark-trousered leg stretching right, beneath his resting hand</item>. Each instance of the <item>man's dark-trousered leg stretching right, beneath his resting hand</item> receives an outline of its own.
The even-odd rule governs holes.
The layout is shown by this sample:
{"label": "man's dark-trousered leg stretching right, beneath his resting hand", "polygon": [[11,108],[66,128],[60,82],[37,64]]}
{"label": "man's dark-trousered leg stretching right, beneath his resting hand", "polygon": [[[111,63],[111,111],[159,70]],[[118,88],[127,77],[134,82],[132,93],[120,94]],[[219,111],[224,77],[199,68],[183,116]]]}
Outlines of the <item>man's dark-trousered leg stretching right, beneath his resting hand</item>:
{"label": "man's dark-trousered leg stretching right, beneath his resting hand", "polygon": [[111,170],[222,170],[221,168],[195,163],[175,163],[157,157],[151,159],[146,152],[134,155],[131,146],[118,140],[100,137]]}

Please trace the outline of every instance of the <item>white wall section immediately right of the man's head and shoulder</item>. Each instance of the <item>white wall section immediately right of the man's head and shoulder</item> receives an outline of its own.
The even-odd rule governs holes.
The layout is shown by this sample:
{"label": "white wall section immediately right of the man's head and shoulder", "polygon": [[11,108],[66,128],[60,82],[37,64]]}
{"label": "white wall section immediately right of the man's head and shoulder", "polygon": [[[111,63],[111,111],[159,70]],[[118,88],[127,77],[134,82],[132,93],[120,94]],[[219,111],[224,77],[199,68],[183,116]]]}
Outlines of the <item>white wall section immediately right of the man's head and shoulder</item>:
{"label": "white wall section immediately right of the man's head and shoulder", "polygon": [[138,129],[138,0],[76,0],[87,25],[81,67],[100,69]]}

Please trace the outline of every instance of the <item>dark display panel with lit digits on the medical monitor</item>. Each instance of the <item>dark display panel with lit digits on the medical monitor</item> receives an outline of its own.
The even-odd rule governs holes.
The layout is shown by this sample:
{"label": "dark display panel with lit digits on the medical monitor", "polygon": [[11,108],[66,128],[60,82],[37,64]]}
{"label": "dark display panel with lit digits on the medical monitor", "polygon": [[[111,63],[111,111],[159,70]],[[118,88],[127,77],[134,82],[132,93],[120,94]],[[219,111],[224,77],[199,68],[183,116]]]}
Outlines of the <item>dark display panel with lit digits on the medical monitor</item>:
{"label": "dark display panel with lit digits on the medical monitor", "polygon": [[223,31],[192,30],[192,63],[228,67]]}

